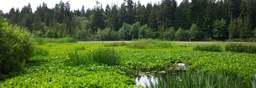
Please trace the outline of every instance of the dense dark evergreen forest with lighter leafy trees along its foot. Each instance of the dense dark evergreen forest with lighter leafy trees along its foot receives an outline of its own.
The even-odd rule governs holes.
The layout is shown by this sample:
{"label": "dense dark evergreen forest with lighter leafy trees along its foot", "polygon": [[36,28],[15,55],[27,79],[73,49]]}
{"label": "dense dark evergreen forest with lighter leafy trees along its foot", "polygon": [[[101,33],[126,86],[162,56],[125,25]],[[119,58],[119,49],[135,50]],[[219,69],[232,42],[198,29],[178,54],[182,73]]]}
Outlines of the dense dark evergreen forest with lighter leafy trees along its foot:
{"label": "dense dark evergreen forest with lighter leafy trees along its foot", "polygon": [[10,9],[4,17],[27,28],[34,37],[74,37],[82,40],[227,40],[256,38],[254,0],[165,0],[160,3],[127,2],[105,9],[70,10],[69,2],[55,8],[46,3],[32,12],[30,3],[21,11]]}

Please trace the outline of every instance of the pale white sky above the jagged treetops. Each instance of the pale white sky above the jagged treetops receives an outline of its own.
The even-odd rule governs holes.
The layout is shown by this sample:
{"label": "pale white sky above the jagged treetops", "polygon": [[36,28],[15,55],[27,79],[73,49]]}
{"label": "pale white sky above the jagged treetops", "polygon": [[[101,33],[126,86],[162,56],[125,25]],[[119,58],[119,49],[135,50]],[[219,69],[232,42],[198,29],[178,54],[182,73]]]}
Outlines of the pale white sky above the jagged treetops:
{"label": "pale white sky above the jagged treetops", "polygon": [[[95,1],[96,0],[62,0],[63,2],[70,1],[71,4],[71,10],[74,9],[81,9],[82,5],[85,6],[85,8],[93,8],[95,6]],[[133,2],[138,2],[138,0],[133,0]],[[140,0],[140,3],[146,5],[148,2],[159,2],[161,0]],[[183,0],[177,0],[178,3],[182,2]],[[3,10],[4,13],[10,11],[12,7],[19,8],[19,10],[22,9],[24,5],[28,5],[28,3],[31,4],[32,10],[35,11],[37,6],[39,4],[42,4],[43,2],[47,3],[49,8],[54,8],[56,3],[59,3],[60,0],[5,0],[0,3],[0,10]],[[121,4],[123,3],[123,0],[98,0],[98,2],[101,2],[103,4],[103,8],[107,4]]]}

